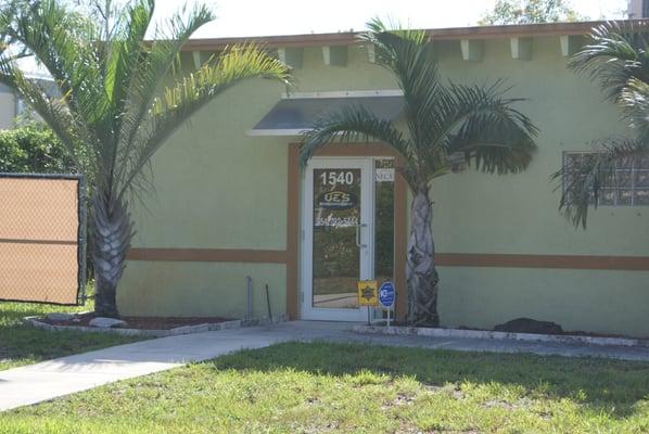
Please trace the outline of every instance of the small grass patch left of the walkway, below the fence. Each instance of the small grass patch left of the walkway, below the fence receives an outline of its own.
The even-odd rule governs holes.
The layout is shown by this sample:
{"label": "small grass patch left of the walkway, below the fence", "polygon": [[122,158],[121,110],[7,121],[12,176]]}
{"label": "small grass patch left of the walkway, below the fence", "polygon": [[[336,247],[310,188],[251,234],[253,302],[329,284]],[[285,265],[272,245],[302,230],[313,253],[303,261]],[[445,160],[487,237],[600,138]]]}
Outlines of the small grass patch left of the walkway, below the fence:
{"label": "small grass patch left of the walkway, below the fence", "polygon": [[0,370],[139,340],[116,334],[51,332],[22,322],[24,317],[51,311],[73,312],[92,308],[91,303],[73,307],[0,302]]}

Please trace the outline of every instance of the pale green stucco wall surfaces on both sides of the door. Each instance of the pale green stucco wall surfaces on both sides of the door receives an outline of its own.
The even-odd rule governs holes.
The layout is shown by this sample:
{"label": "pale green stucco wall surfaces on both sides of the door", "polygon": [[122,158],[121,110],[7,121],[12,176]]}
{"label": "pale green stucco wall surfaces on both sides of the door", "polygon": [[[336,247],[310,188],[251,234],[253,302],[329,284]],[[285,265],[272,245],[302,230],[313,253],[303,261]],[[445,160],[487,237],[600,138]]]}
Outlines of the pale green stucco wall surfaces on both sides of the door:
{"label": "pale green stucco wall surfaces on both sides of the door", "polygon": [[[540,132],[524,174],[471,170],[434,182],[433,233],[441,253],[649,255],[645,207],[601,207],[588,230],[557,213],[550,175],[563,151],[623,135],[615,108],[586,78],[567,71],[558,37],[534,39],[533,60],[512,60],[509,40],[485,42],[483,62],[461,60],[459,41],[438,42],[441,69],[461,82],[506,78]],[[387,73],[349,49],[346,67],[324,66],[305,49],[298,91],[394,89]],[[156,155],[155,193],[136,205],[136,247],[283,250],[287,239],[285,138],[246,137],[283,88],[252,80],[226,92]],[[440,311],[447,326],[492,328],[517,317],[649,336],[649,272],[441,267]],[[273,311],[285,310],[285,267],[266,264],[130,261],[118,291],[128,315],[240,316],[244,279],[269,282]],[[257,302],[255,302],[257,303]],[[257,304],[255,304],[257,306]],[[263,307],[263,306],[262,306]]]}

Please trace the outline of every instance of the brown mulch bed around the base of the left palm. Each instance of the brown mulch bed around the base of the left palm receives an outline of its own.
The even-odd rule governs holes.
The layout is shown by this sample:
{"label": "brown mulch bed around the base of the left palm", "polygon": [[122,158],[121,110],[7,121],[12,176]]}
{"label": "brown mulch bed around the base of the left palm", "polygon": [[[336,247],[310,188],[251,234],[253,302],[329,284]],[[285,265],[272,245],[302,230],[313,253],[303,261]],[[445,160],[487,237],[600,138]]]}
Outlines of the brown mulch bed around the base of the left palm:
{"label": "brown mulch bed around the base of the left palm", "polygon": [[[41,318],[40,321],[52,324],[52,326],[86,326],[90,327],[89,322],[94,318],[93,312],[78,314],[75,315],[72,320],[67,321],[53,321],[46,318]],[[170,330],[183,326],[198,326],[198,324],[214,324],[218,322],[229,321],[228,318],[219,317],[189,317],[189,318],[166,318],[166,317],[120,317],[123,321],[126,321],[124,329],[139,329],[139,330]]]}

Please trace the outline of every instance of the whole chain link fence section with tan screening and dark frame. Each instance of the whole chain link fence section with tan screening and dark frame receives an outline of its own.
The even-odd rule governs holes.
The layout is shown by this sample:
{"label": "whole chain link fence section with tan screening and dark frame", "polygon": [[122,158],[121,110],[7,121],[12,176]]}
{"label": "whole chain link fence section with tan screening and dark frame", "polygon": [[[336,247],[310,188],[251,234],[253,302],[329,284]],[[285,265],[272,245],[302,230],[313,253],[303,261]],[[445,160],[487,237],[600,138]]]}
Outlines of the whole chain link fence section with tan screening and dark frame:
{"label": "whole chain link fence section with tan screening and dark frame", "polygon": [[0,174],[0,301],[84,303],[84,197],[78,175]]}

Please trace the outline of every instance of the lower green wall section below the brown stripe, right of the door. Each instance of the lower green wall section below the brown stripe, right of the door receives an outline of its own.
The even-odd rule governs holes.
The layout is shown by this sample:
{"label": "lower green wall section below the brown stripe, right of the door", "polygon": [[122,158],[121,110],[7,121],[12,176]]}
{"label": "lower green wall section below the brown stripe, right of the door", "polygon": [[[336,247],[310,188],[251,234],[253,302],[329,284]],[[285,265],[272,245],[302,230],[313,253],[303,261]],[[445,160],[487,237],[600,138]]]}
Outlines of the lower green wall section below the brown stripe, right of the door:
{"label": "lower green wall section below the brown stripe, right of the door", "polygon": [[440,267],[446,326],[492,329],[527,317],[567,331],[649,336],[644,271]]}

